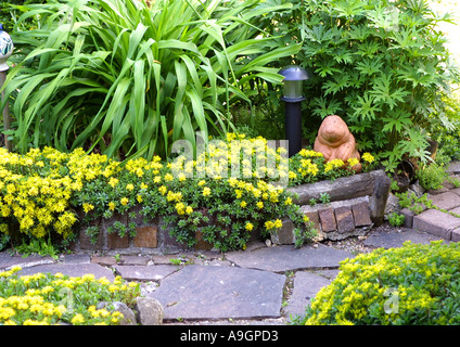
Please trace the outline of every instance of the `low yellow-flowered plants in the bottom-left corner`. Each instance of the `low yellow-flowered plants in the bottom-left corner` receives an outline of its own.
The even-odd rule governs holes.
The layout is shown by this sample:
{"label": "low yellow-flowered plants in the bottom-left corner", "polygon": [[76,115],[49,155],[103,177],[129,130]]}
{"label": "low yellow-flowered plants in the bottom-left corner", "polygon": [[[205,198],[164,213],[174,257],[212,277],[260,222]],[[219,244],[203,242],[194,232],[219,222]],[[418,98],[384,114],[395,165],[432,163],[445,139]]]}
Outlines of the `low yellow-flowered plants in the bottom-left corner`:
{"label": "low yellow-flowered plants in the bottom-left corner", "polygon": [[97,309],[100,301],[123,301],[133,308],[139,283],[117,277],[114,282],[93,274],[18,275],[21,267],[0,272],[0,325],[117,325],[123,314]]}

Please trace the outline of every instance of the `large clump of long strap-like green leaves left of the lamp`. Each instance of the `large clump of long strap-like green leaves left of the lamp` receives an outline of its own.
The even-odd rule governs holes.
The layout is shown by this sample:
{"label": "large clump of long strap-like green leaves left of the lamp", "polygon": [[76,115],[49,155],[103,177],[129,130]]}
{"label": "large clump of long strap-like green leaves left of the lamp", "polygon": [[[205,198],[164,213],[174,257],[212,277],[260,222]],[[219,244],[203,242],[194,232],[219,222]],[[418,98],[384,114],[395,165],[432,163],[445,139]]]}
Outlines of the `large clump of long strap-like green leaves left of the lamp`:
{"label": "large clump of long strap-like green leaves left of the lamp", "polygon": [[[178,139],[194,144],[195,130],[225,133],[232,105],[257,92],[250,82],[279,83],[278,69],[266,65],[298,51],[257,27],[259,16],[289,8],[261,0],[26,4],[11,33],[17,65],[5,89],[14,144],[23,154],[81,146],[151,159],[166,157]],[[37,28],[24,28],[38,13]]]}

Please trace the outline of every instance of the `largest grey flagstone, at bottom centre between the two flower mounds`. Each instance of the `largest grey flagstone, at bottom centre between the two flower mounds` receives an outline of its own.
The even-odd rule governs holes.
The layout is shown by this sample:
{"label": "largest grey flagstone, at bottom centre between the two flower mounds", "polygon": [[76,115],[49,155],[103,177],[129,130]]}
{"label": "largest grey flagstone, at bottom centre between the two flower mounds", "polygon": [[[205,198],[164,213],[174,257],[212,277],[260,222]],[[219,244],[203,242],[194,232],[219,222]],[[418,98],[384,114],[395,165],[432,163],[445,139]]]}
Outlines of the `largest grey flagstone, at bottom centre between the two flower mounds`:
{"label": "largest grey flagstone, at bottom centre between the two flower mounds", "polygon": [[186,266],[149,294],[165,319],[278,318],[285,277],[237,267]]}

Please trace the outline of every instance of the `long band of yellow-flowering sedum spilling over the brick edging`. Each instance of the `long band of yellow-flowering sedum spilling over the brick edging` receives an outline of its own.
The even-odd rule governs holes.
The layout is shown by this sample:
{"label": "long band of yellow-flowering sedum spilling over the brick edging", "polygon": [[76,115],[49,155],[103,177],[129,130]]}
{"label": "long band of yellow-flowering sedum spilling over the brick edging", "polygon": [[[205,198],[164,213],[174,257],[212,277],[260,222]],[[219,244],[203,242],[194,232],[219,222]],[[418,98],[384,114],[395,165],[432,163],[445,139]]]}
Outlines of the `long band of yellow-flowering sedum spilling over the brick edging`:
{"label": "long band of yellow-flowering sedum spilling over the brick edging", "polygon": [[[16,242],[51,236],[65,244],[79,229],[95,241],[101,218],[128,215],[128,222],[116,221],[108,232],[133,236],[135,220],[162,217],[183,244],[193,246],[200,229],[205,241],[228,250],[244,248],[253,232],[267,236],[290,218],[302,244],[316,233],[286,188],[353,172],[311,150],[288,158],[264,138],[237,133],[191,153],[169,162],[117,162],[81,149],[33,149],[26,155],[0,149],[0,232]],[[362,157],[370,169],[373,156]]]}

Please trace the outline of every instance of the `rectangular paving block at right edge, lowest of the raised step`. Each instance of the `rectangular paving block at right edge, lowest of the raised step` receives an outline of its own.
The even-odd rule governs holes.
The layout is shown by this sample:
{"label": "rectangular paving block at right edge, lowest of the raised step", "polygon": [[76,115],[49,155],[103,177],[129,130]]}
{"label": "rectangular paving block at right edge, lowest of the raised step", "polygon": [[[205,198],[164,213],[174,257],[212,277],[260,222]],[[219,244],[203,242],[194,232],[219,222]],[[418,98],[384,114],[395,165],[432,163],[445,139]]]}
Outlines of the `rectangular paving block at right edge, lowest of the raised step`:
{"label": "rectangular paving block at right edge, lowest of the raised step", "polygon": [[460,218],[437,209],[427,209],[420,215],[413,217],[413,228],[450,240],[450,234],[453,229],[460,227]]}

